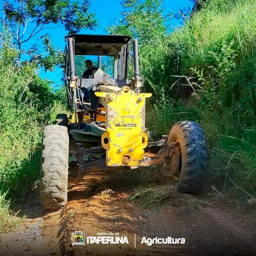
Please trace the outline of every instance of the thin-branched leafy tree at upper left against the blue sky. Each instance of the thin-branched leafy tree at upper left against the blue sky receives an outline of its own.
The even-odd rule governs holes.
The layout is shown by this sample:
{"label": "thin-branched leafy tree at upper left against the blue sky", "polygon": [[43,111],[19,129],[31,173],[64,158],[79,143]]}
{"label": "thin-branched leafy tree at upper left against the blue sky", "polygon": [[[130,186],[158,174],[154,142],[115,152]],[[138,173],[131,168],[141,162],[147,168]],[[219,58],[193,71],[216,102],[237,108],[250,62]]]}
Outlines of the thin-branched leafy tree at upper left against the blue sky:
{"label": "thin-branched leafy tree at upper left against the blue sky", "polygon": [[[15,0],[12,3],[4,0],[4,22],[11,28],[14,42],[19,50],[18,60],[24,53],[24,43],[41,35],[40,39],[43,40],[48,53],[46,59],[42,54],[40,58],[37,56],[40,51],[36,46],[32,46],[27,54],[44,65],[46,70],[51,70],[53,52],[55,53],[57,49],[51,45],[48,35],[43,32],[57,27],[64,27],[68,32],[79,32],[82,28],[94,29],[97,20],[95,14],[89,11],[89,6],[90,0]],[[47,58],[51,61],[48,62]]]}

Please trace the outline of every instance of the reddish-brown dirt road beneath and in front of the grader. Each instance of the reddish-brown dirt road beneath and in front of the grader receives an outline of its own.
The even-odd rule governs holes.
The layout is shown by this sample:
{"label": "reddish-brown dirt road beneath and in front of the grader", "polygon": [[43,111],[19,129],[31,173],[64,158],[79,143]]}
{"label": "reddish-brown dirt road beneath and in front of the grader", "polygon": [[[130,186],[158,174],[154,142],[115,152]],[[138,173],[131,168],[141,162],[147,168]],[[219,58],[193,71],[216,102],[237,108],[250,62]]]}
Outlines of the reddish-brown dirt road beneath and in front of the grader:
{"label": "reddish-brown dirt road beneath and in front of the grader", "polygon": [[[101,182],[106,176],[112,178]],[[69,201],[61,210],[42,209],[38,190],[22,203],[27,221],[0,234],[0,255],[256,255],[255,226],[226,202],[180,195],[170,187],[172,203],[141,208],[127,198],[145,185],[144,178],[132,180],[129,173],[116,175],[97,168],[78,186],[72,185],[72,177],[69,182]],[[147,186],[160,182],[155,176]],[[115,237],[117,232],[129,244],[87,244],[85,239],[85,245],[72,246],[71,233],[76,230],[85,238],[105,232]],[[141,244],[143,237],[185,238],[185,244],[148,246]]]}

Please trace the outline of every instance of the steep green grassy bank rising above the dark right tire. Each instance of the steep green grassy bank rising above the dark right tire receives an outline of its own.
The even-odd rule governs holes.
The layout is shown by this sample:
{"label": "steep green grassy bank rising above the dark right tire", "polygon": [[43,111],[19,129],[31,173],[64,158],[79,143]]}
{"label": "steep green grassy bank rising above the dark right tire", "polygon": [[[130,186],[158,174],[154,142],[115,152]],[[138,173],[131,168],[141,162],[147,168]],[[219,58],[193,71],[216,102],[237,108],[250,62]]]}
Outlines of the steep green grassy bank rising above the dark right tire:
{"label": "steep green grassy bank rising above the dark right tire", "polygon": [[194,77],[196,93],[190,89],[184,97],[187,80],[173,77],[158,86],[163,93],[148,104],[146,117],[155,138],[168,134],[174,122],[197,121],[207,137],[212,182],[241,203],[256,198],[255,31],[255,1],[206,1],[168,36],[169,58],[175,60],[168,69]]}

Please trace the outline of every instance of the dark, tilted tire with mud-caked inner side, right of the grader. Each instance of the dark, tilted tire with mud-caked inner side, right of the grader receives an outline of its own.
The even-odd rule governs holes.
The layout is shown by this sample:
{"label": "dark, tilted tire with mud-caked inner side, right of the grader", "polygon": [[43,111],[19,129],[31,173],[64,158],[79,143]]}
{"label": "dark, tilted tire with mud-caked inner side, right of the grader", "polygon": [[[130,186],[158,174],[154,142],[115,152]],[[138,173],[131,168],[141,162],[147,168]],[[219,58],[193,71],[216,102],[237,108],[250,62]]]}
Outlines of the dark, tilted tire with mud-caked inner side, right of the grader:
{"label": "dark, tilted tire with mud-caked inner side, right of the grader", "polygon": [[168,143],[180,144],[180,175],[177,190],[198,194],[206,177],[207,148],[202,128],[196,122],[182,121],[172,126]]}

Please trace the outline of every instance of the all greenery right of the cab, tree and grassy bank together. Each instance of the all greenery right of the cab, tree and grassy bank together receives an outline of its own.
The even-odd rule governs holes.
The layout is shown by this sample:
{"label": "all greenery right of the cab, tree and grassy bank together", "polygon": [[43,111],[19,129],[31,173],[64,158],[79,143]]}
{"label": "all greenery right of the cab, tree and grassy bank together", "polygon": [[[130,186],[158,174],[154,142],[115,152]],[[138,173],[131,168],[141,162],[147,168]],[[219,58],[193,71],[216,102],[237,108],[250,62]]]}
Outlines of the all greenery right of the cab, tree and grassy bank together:
{"label": "all greenery right of the cab, tree and grassy bank together", "polygon": [[190,19],[184,11],[184,26],[168,34],[162,2],[123,1],[122,23],[108,31],[138,38],[144,89],[154,92],[146,115],[153,137],[179,120],[199,122],[219,189],[250,201],[256,197],[256,3],[201,3],[201,11]]}

